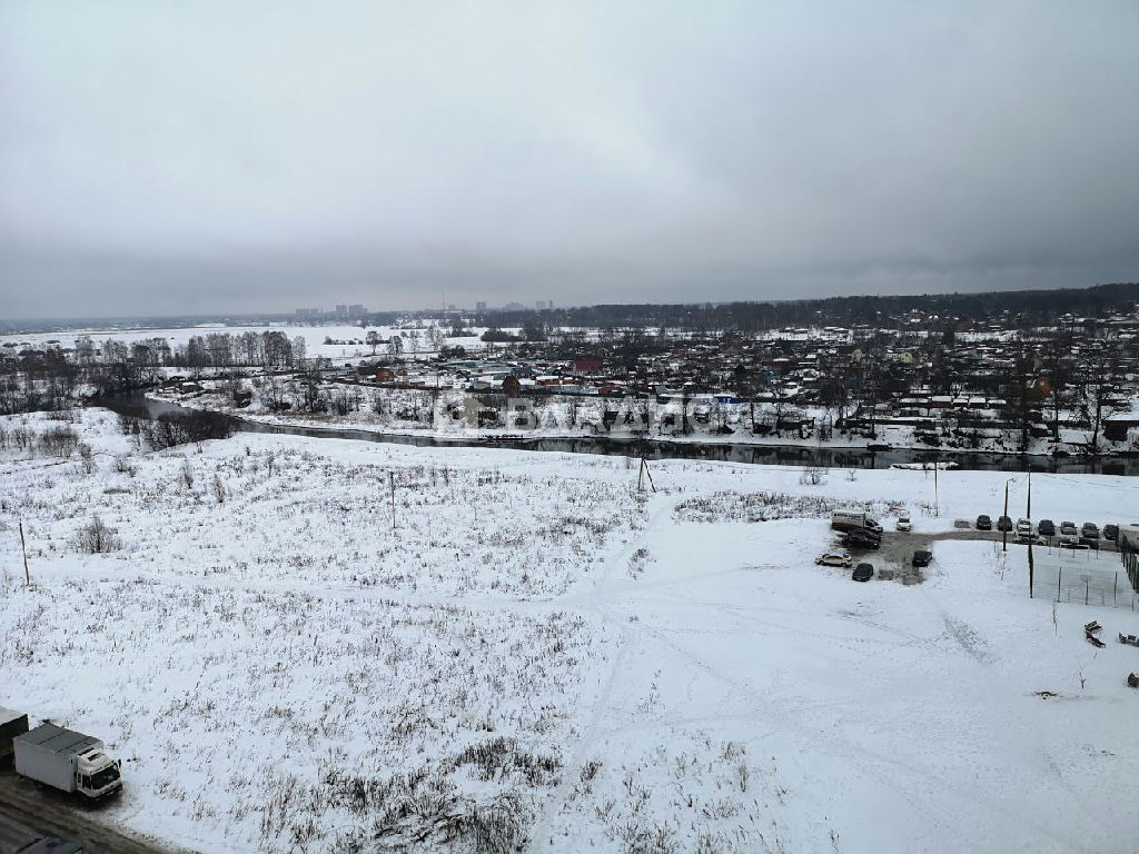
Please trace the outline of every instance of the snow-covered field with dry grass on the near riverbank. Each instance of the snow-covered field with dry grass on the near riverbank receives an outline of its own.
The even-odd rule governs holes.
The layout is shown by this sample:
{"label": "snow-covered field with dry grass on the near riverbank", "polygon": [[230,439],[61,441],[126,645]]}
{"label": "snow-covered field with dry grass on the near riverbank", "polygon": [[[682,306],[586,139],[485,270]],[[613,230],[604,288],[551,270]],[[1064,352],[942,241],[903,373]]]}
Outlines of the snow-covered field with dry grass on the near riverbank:
{"label": "snow-covered field with dry grass on the near riverbank", "polygon": [[[671,461],[639,493],[622,458],[153,453],[88,410],[60,460],[10,437],[62,422],[0,425],[0,705],[103,737],[100,815],[171,845],[1134,849],[1139,614],[1030,600],[1022,547],[934,542],[910,586],[813,563],[836,502],[936,534],[1003,474],[942,473],[934,516],[920,471]],[[1038,518],[1139,515],[1128,478],[1032,487]],[[76,548],[95,515],[121,548]]]}

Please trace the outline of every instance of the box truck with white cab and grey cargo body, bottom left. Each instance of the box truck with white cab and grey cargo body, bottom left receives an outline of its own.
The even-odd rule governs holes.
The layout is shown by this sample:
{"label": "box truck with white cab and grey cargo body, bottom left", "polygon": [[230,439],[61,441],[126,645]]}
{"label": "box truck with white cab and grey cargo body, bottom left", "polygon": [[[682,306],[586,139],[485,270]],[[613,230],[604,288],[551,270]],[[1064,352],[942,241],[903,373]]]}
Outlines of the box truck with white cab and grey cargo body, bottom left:
{"label": "box truck with white cab and grey cargo body, bottom left", "polygon": [[16,773],[62,791],[77,791],[98,800],[123,788],[120,763],[103,749],[103,742],[54,723],[41,723],[13,739]]}

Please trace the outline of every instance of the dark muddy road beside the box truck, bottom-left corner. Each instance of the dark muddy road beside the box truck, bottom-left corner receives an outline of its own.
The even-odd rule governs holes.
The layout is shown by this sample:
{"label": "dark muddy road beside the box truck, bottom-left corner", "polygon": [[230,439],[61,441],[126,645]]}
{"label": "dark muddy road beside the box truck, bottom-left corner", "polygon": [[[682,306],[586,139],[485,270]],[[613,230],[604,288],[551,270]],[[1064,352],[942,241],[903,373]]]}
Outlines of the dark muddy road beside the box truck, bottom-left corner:
{"label": "dark muddy road beside the box truck, bottom-left corner", "polygon": [[9,767],[0,771],[0,852],[38,836],[83,843],[91,854],[173,854],[161,844],[126,836],[99,820],[98,805],[87,806],[54,789],[38,788]]}

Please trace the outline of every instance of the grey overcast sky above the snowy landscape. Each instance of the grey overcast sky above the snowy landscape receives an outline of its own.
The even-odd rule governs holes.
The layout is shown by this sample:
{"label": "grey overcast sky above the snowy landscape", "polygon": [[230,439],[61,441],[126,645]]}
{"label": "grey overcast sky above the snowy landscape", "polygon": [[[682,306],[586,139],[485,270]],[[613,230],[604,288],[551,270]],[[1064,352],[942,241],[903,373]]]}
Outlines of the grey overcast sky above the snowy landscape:
{"label": "grey overcast sky above the snowy landscape", "polygon": [[0,318],[1137,280],[1137,36],[1134,0],[0,0]]}

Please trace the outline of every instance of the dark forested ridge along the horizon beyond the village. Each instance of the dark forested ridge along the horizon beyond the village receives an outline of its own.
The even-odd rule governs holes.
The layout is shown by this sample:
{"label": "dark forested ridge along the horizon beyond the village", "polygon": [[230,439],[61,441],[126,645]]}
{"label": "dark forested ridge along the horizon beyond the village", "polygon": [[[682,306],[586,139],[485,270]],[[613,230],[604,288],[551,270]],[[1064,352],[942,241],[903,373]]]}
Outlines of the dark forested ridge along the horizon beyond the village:
{"label": "dark forested ridge along the horizon beyond the village", "polygon": [[1007,328],[1056,322],[1064,314],[1104,317],[1129,311],[1139,302],[1139,282],[1097,285],[1054,290],[1003,290],[981,294],[906,296],[835,296],[767,303],[696,303],[666,305],[589,305],[541,311],[489,310],[473,318],[489,327],[669,327],[760,331],[786,326],[850,326],[878,323],[917,310],[940,320],[1000,320]]}

